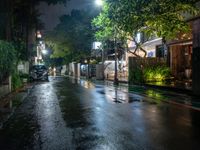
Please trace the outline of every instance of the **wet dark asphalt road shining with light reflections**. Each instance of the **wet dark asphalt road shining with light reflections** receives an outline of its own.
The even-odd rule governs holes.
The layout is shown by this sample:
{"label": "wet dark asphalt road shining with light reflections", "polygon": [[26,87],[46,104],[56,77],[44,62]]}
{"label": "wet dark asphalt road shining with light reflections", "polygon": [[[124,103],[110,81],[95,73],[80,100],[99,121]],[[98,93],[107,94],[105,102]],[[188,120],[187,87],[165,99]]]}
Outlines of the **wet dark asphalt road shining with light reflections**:
{"label": "wet dark asphalt road shining with light reflections", "polygon": [[200,149],[199,103],[194,99],[196,105],[187,107],[190,98],[51,78],[34,85],[0,130],[0,149]]}

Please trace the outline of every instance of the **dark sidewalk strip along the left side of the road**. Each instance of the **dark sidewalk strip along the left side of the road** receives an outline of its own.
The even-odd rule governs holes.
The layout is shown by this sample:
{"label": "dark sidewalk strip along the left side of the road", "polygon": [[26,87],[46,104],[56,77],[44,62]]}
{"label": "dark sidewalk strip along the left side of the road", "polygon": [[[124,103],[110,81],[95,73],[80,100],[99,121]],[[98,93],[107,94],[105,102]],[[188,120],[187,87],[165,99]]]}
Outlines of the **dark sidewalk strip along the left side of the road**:
{"label": "dark sidewalk strip along the left side of the road", "polygon": [[12,116],[15,109],[24,101],[32,87],[33,86],[31,84],[27,84],[0,99],[0,129]]}

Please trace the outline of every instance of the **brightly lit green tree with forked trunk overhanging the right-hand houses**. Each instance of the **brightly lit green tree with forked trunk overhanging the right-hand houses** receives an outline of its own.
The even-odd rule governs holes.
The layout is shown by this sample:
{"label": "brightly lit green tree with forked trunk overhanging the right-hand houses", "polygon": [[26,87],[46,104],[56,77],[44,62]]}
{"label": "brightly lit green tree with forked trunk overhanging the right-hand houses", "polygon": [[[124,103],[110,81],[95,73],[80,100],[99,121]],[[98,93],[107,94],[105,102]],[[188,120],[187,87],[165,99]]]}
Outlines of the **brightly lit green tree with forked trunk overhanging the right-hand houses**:
{"label": "brightly lit green tree with forked trunk overhanging the right-hand houses", "polygon": [[[96,37],[106,39],[106,31],[117,29],[122,37],[133,40],[138,49],[144,52],[142,44],[137,41],[139,32],[145,34],[146,40],[151,36],[173,39],[179,33],[189,32],[186,16],[199,13],[195,3],[198,0],[107,0],[102,13],[94,20],[97,27]],[[187,14],[187,15],[186,15]],[[108,20],[108,22],[106,22]],[[136,55],[137,56],[137,55]]]}

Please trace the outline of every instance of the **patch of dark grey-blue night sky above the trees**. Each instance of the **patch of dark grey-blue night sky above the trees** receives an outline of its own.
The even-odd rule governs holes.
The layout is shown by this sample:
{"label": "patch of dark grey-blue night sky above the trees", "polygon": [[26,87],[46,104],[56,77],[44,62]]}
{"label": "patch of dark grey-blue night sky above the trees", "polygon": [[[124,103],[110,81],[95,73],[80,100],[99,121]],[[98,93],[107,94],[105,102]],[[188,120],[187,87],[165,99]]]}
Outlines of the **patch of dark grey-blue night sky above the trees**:
{"label": "patch of dark grey-blue night sky above the trees", "polygon": [[94,0],[70,0],[66,6],[62,4],[50,5],[41,3],[38,7],[42,16],[41,20],[45,24],[45,30],[52,30],[58,23],[59,17],[63,14],[69,14],[72,9],[86,9],[94,5]]}

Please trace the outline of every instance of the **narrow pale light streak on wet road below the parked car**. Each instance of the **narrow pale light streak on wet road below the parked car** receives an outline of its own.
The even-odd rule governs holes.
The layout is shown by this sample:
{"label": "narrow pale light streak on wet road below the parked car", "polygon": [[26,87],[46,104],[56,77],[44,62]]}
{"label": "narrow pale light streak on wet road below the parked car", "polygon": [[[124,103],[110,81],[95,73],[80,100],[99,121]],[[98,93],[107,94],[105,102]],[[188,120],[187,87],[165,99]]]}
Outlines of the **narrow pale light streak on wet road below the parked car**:
{"label": "narrow pale light streak on wet road below the parked car", "polygon": [[52,84],[37,89],[36,113],[40,125],[42,149],[66,149],[71,145],[71,132],[62,118],[59,102]]}

